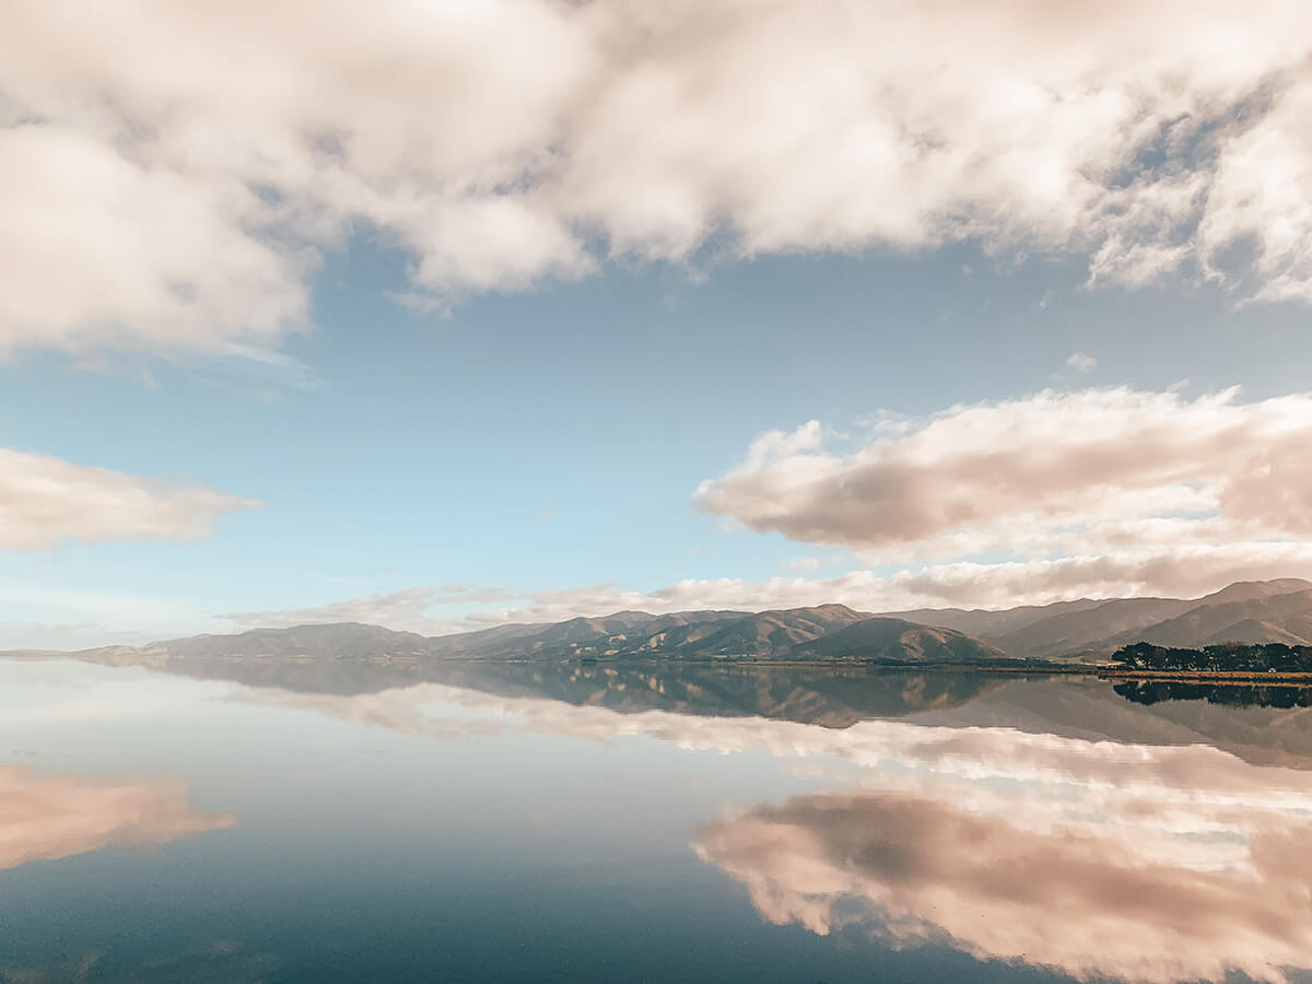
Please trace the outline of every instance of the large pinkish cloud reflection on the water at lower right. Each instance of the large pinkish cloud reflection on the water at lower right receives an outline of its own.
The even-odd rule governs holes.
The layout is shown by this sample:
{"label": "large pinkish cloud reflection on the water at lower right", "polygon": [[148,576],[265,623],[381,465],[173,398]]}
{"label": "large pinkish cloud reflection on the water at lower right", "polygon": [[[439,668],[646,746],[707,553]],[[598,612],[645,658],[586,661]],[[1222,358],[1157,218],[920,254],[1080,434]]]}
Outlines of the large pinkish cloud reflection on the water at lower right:
{"label": "large pinkish cloud reflection on the water at lower right", "polygon": [[708,824],[698,855],[765,918],[820,934],[1162,983],[1312,964],[1312,775],[1206,747],[891,727],[897,768]]}

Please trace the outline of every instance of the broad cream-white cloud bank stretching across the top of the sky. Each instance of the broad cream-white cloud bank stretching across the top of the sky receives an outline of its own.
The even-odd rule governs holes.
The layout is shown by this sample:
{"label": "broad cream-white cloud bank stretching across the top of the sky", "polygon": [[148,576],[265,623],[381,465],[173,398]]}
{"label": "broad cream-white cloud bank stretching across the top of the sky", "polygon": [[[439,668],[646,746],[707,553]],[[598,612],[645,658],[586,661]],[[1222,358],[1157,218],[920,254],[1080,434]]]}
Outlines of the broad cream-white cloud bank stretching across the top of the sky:
{"label": "broad cream-white cloud bank stretching across the top of the sky", "polygon": [[20,0],[0,349],[266,345],[357,227],[438,302],[712,237],[1309,300],[1309,43],[1298,0]]}

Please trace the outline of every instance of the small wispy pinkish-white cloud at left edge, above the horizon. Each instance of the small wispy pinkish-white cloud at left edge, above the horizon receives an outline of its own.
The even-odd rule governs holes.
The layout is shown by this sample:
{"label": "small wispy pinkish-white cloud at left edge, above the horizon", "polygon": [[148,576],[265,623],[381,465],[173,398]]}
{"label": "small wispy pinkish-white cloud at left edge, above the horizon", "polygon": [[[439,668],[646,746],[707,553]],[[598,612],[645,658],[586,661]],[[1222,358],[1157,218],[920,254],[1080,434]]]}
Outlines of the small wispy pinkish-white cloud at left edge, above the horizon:
{"label": "small wispy pinkish-white cloud at left edge, above the horizon", "polygon": [[202,539],[251,499],[0,447],[0,550],[60,541]]}

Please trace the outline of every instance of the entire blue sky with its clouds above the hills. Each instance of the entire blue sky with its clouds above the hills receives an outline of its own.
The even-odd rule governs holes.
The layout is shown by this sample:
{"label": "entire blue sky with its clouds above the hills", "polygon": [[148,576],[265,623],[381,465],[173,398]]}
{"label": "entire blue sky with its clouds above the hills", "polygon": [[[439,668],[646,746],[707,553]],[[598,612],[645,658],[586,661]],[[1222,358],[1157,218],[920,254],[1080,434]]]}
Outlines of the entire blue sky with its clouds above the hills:
{"label": "entire blue sky with its clouds above the hills", "polygon": [[1312,576],[1302,3],[7,21],[0,648]]}

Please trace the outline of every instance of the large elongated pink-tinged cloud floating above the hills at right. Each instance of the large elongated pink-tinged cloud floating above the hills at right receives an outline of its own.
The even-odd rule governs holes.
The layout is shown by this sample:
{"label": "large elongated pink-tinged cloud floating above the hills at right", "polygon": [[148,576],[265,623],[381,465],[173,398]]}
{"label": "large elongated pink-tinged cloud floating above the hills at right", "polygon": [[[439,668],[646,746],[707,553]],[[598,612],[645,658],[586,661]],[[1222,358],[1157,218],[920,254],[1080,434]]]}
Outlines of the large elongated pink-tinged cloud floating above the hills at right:
{"label": "large elongated pink-tinged cloud floating above the hills at right", "polygon": [[958,405],[848,454],[816,433],[762,434],[701,484],[698,508],[872,563],[1010,551],[1114,565],[1145,548],[1296,552],[1312,533],[1308,394],[1044,391]]}

